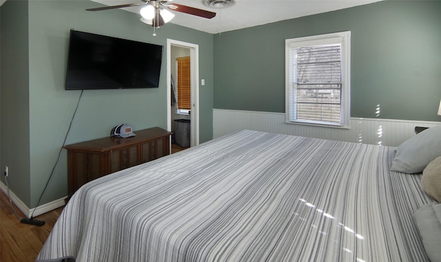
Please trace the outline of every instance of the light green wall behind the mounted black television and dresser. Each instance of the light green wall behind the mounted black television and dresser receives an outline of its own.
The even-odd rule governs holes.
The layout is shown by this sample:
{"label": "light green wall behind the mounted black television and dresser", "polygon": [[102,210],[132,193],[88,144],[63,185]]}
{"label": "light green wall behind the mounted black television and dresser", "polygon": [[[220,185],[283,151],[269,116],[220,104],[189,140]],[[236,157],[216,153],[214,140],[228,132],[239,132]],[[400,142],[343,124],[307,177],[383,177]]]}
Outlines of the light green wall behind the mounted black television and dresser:
{"label": "light green wall behind the mounted black television and dresser", "polygon": [[[21,80],[4,81],[4,85],[2,80],[1,105],[3,107],[5,96],[12,96],[10,93],[16,88],[15,82],[23,82],[20,87],[23,96],[14,97],[10,103],[24,111],[23,115],[26,118],[23,118],[25,126],[21,131],[23,134],[13,136],[12,132],[1,133],[1,168],[8,165],[10,173],[21,173],[16,176],[10,175],[10,188],[30,208],[37,206],[38,198],[52,173],[52,168],[57,163],[78,102],[79,107],[66,144],[105,137],[110,135],[112,127],[122,122],[131,124],[135,131],[149,127],[167,128],[167,39],[193,43],[199,47],[199,76],[205,78],[207,83],[200,90],[200,141],[212,139],[212,34],[169,23],[156,32],[157,36],[152,36],[152,27],[141,23],[138,14],[124,10],[85,11],[85,8],[100,6],[99,3],[92,1],[17,1],[28,10],[28,14],[25,15],[21,14],[23,11],[19,8],[11,8],[18,5],[17,3],[9,2],[6,1],[1,7],[1,39],[5,36],[3,32],[3,22],[5,22],[9,32],[23,35],[23,40],[28,39],[28,41],[19,43],[19,47],[23,46],[26,50],[24,54],[21,54],[21,49],[16,48],[14,43],[8,45],[6,50],[11,56],[23,58],[23,68],[21,65],[16,65],[18,61],[15,58],[3,56],[1,68],[3,70],[3,67],[6,67],[6,71],[17,71],[15,69],[17,67],[28,74]],[[3,12],[8,12],[10,15],[3,17]],[[13,21],[17,18],[14,17],[19,17],[26,27],[17,26]],[[81,91],[66,91],[65,67],[69,32],[72,28],[164,45],[160,87],[85,90],[81,99]],[[21,74],[15,76],[21,77]],[[5,86],[6,88],[3,88]],[[3,96],[3,93],[6,95]],[[9,128],[16,127],[15,123],[21,121],[10,112],[6,113],[4,110],[1,112],[3,129],[7,127],[3,116],[12,118],[8,122]],[[12,139],[14,141],[8,143]],[[23,144],[21,149],[17,146],[17,141]],[[25,154],[22,154],[22,151],[25,151]],[[22,155],[24,155],[23,159],[18,161]],[[68,194],[66,158],[66,152],[62,150],[40,205]],[[21,164],[28,168],[21,170]],[[25,187],[24,184],[28,186]]]}

